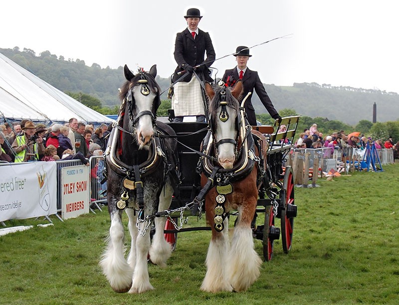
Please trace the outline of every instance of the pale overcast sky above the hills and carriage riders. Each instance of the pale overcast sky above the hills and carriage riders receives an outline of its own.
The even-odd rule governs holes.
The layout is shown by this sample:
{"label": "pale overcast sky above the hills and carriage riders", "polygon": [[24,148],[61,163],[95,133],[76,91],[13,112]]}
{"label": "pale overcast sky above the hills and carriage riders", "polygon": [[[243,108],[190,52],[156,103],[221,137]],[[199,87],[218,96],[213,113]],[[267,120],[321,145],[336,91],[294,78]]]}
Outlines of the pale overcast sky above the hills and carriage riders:
{"label": "pale overcast sky above the hills and carriage riders", "polygon": [[[39,55],[128,64],[169,77],[176,33],[184,15],[200,8],[216,58],[238,45],[250,49],[248,67],[263,83],[317,82],[399,92],[399,1],[395,0],[18,0],[2,1],[0,47]],[[221,77],[235,66],[227,56],[213,64]]]}

